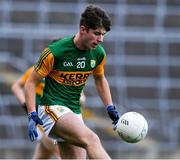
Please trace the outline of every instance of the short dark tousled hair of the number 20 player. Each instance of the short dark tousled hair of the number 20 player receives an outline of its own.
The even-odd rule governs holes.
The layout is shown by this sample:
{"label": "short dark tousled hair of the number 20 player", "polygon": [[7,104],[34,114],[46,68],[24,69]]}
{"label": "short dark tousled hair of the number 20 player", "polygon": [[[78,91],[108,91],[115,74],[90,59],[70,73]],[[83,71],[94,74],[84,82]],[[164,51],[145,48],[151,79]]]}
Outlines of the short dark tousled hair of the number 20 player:
{"label": "short dark tousled hair of the number 20 player", "polygon": [[110,31],[111,20],[102,8],[95,5],[88,5],[81,14],[80,25],[90,29],[104,27],[106,31]]}

